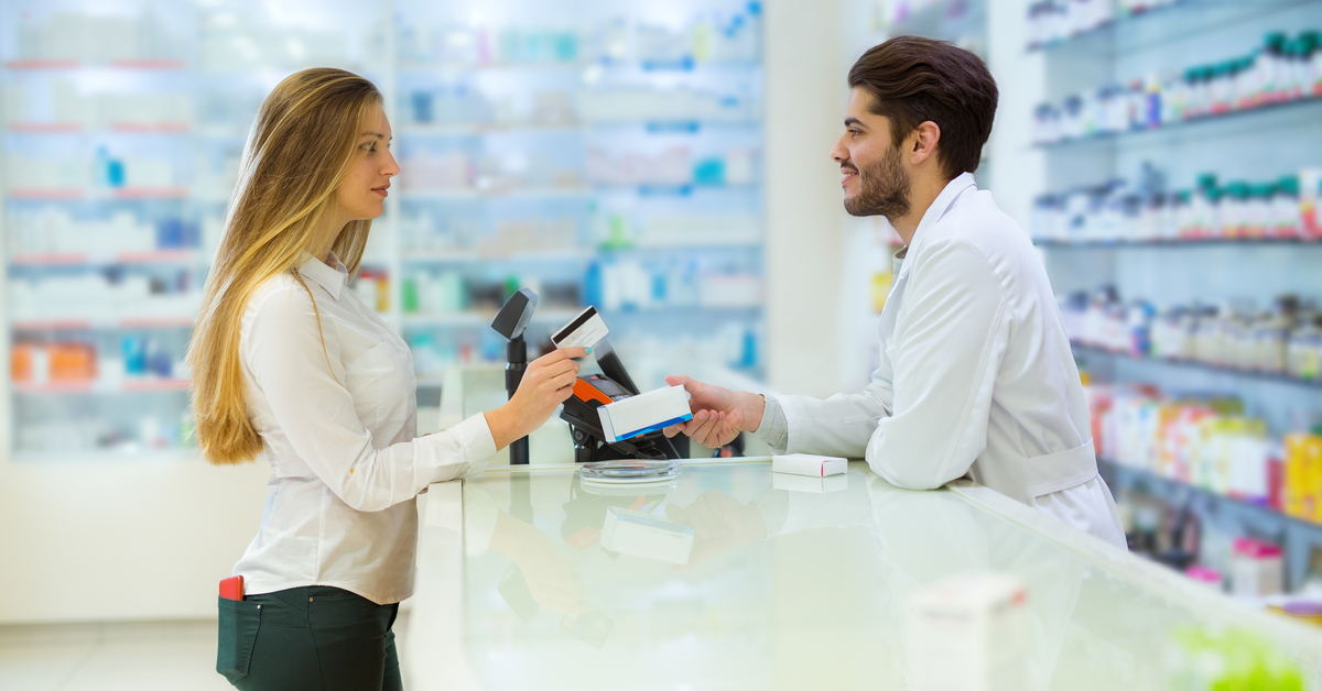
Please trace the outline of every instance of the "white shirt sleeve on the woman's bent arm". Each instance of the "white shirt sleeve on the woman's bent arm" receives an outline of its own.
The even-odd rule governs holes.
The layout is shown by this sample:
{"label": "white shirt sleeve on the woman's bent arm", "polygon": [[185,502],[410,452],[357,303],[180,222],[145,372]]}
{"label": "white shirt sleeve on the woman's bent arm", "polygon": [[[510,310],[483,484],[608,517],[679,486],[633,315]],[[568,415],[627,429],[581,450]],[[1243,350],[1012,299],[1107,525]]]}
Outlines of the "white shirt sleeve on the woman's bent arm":
{"label": "white shirt sleeve on the woman's bent arm", "polygon": [[[319,320],[300,287],[260,296],[241,344],[254,386],[270,404],[271,433],[284,435],[299,458],[350,507],[379,511],[427,485],[481,472],[496,453],[486,419],[475,415],[435,435],[373,445],[342,383],[336,326]],[[324,353],[323,353],[324,346]]]}

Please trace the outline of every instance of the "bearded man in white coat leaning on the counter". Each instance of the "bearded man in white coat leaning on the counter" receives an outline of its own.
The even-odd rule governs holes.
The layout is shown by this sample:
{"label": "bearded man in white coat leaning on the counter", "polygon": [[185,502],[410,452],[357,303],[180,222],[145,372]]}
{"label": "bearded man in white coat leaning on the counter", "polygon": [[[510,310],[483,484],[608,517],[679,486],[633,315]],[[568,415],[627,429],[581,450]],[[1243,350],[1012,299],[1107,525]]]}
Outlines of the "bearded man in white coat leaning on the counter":
{"label": "bearded man in white coat leaning on the counter", "polygon": [[1046,268],[978,190],[997,86],[943,41],[902,36],[849,71],[845,210],[904,240],[880,316],[880,366],[859,394],[759,396],[687,377],[694,419],[666,429],[719,448],[752,432],[777,452],[866,457],[892,485],[972,477],[1117,547],[1088,406]]}

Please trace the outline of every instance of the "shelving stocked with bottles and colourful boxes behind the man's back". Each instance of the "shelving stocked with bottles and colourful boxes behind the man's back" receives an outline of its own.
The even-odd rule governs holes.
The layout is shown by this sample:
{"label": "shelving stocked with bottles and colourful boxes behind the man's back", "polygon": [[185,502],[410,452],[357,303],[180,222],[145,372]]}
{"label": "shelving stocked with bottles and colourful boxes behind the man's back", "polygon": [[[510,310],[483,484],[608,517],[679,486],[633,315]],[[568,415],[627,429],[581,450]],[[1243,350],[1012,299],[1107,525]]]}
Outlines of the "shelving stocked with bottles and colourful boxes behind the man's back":
{"label": "shelving stocked with bottles and colourful boxes behind the man's back", "polygon": [[1042,91],[1010,127],[1043,173],[1021,221],[1136,548],[1233,588],[1251,540],[1284,548],[1276,588],[1317,580],[1322,3],[1047,1],[1019,21]]}

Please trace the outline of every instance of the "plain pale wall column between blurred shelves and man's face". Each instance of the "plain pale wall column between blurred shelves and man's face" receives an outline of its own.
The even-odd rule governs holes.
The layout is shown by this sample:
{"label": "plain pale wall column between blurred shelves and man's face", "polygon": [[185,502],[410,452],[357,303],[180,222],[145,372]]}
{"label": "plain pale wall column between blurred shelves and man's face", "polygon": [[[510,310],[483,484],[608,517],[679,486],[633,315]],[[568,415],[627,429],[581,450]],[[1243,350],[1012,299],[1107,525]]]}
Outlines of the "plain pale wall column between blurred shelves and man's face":
{"label": "plain pale wall column between blurred shelves and man's face", "polygon": [[767,383],[825,396],[841,390],[839,0],[765,12]]}

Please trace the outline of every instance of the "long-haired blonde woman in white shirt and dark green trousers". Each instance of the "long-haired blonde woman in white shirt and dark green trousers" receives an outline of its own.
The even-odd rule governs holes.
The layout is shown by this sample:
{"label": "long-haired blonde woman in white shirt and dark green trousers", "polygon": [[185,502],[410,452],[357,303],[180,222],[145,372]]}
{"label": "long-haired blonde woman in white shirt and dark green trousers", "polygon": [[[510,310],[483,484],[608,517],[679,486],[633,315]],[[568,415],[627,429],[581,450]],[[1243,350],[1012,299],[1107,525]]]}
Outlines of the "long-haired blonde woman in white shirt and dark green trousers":
{"label": "long-haired blonde woman in white shirt and dark green trousers", "polygon": [[398,690],[428,484],[480,472],[568,398],[583,349],[531,365],[505,406],[416,437],[412,357],[348,288],[399,174],[379,91],[297,73],[267,96],[189,347],[213,464],[266,452],[262,525],[221,599],[217,671],[242,690]]}

